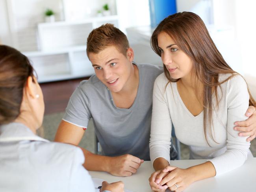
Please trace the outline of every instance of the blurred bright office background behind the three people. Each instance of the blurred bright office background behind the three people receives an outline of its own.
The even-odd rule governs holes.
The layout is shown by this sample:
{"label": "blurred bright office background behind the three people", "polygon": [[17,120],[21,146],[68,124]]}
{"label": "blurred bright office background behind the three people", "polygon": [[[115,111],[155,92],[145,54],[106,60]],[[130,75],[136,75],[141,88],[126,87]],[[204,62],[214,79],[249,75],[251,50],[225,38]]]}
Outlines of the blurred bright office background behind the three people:
{"label": "blurred bright office background behind the three people", "polygon": [[[46,104],[41,134],[53,140],[70,95],[94,74],[86,39],[104,23],[127,35],[135,62],[162,65],[150,47],[154,28],[173,13],[197,13],[256,98],[255,10],[251,0],[0,0],[0,44],[17,48],[32,61]],[[82,145],[93,151],[93,129],[88,132]]]}

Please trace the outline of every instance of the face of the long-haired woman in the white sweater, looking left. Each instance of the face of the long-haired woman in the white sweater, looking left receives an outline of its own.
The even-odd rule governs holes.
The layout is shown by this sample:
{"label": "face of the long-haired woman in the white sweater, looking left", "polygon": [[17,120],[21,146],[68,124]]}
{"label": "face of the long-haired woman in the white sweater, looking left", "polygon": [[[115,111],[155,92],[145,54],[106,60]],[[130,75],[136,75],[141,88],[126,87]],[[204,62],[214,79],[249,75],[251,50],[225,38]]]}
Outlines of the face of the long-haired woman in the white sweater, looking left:
{"label": "face of the long-haired woman in the white sweater, looking left", "polygon": [[171,78],[179,79],[190,76],[193,68],[192,59],[177,46],[167,33],[159,33],[158,48],[161,51],[163,64]]}

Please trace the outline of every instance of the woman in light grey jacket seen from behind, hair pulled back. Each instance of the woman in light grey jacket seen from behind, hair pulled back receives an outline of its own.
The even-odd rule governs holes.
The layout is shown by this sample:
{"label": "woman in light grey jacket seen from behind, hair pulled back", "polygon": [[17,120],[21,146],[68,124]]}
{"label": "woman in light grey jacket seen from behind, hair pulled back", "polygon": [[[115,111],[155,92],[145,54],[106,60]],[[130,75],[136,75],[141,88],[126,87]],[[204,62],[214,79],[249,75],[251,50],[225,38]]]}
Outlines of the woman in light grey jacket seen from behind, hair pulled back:
{"label": "woman in light grey jacket seen from behind, hair pulled back", "polygon": [[[80,148],[35,135],[44,109],[28,58],[0,45],[0,191],[95,192]],[[123,187],[103,182],[101,191]]]}

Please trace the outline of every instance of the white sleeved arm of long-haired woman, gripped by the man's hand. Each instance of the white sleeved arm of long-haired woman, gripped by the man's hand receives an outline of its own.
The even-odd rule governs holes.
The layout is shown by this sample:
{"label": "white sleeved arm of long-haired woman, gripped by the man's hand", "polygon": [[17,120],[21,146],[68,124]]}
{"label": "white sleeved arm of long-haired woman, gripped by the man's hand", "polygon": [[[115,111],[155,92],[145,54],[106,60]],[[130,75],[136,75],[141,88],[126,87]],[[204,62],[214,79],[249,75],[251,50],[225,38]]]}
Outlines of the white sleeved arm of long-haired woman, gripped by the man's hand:
{"label": "white sleeved arm of long-haired woman, gripped by the man's hand", "polygon": [[247,159],[250,142],[246,137],[239,137],[238,131],[234,130],[237,120],[246,120],[245,112],[249,106],[249,93],[245,80],[237,75],[229,79],[226,85],[227,101],[227,144],[226,152],[218,157],[210,159],[215,167],[216,175],[229,172],[241,165]]}

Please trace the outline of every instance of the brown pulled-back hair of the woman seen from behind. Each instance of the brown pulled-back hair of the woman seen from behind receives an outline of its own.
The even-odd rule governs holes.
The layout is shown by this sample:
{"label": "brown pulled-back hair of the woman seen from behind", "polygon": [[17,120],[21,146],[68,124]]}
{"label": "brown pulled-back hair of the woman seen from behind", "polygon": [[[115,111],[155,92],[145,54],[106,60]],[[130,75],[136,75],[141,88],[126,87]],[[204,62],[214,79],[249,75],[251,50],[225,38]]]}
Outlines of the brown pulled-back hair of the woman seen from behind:
{"label": "brown pulled-back hair of the woman seen from behind", "polygon": [[14,48],[0,45],[0,125],[20,114],[23,88],[33,67],[28,58]]}

